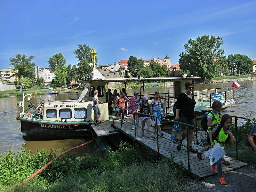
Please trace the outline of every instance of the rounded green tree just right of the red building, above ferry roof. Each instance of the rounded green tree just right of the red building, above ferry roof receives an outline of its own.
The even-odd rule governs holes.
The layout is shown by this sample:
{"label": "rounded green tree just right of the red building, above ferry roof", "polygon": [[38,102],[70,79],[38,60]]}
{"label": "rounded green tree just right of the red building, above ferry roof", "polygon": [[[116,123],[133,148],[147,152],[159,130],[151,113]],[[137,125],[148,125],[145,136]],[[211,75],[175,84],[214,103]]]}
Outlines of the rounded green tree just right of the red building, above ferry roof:
{"label": "rounded green tree just right of the red building, above ferry roof", "polygon": [[129,57],[128,71],[132,74],[132,77],[137,77],[142,68],[144,68],[144,61],[142,59],[137,59],[134,56]]}

